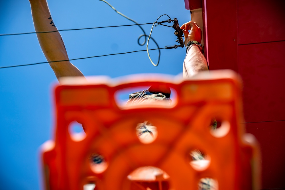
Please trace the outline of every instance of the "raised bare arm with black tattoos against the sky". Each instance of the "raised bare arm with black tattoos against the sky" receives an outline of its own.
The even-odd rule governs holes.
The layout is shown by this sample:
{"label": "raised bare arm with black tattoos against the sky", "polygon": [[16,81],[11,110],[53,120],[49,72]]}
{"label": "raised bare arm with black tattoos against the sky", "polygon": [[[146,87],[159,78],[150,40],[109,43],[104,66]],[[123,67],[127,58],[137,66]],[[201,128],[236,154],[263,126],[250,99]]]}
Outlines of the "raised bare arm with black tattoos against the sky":
{"label": "raised bare arm with black tattoos against the sky", "polygon": [[[46,0],[29,0],[36,32],[57,30],[50,15]],[[68,55],[59,32],[38,33],[38,41],[48,62],[68,60]],[[49,63],[57,79],[65,76],[83,76],[69,61]]]}

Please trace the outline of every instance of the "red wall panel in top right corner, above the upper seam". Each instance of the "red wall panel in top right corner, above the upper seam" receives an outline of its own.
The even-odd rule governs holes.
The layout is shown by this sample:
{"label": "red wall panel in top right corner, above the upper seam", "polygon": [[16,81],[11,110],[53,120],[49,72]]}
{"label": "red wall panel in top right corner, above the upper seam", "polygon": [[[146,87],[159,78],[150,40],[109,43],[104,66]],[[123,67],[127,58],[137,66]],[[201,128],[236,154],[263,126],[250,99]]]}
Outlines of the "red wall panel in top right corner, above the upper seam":
{"label": "red wall panel in top right corner, above the upper seam", "polygon": [[285,1],[238,0],[238,44],[285,40]]}

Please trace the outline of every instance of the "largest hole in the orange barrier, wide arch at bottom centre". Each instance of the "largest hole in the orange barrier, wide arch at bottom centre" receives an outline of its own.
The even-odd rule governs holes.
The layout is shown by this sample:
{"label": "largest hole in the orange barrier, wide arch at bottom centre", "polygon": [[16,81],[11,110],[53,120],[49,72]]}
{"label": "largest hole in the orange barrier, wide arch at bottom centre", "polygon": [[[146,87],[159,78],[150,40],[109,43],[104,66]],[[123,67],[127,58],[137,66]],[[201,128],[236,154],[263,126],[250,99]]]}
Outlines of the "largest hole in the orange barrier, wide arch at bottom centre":
{"label": "largest hole in the orange barrier, wide arch at bottom centre", "polygon": [[139,167],[127,178],[131,181],[130,190],[168,190],[170,188],[169,175],[153,166]]}

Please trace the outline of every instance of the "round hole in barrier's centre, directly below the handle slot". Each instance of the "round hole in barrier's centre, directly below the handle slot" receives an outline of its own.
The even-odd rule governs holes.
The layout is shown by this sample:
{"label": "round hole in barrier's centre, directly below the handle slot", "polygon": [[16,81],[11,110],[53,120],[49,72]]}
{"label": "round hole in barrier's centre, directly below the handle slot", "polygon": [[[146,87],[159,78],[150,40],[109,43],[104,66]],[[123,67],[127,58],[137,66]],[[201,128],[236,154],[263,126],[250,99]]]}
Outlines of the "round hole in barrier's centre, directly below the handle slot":
{"label": "round hole in barrier's centre, directly below the handle slot", "polygon": [[139,140],[144,144],[152,143],[157,137],[157,128],[149,121],[137,124],[136,130]]}

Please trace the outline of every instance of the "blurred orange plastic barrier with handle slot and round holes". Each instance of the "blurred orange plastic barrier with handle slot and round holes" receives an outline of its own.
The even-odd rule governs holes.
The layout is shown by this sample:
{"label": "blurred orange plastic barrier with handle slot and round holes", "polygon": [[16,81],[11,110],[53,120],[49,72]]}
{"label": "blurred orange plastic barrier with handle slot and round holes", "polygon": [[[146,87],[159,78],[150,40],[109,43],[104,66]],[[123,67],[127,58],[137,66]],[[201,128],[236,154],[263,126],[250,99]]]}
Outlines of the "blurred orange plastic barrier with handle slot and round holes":
{"label": "blurred orange plastic barrier with handle slot and round holes", "polygon": [[[81,190],[86,184],[100,190],[147,189],[144,183],[157,182],[148,189],[189,190],[198,189],[206,177],[217,181],[217,189],[259,188],[258,146],[242,124],[241,82],[235,73],[212,71],[185,81],[144,77],[88,83],[73,78],[56,86],[55,136],[42,146],[46,189]],[[152,84],[174,89],[177,100],[120,107],[114,99],[121,89]],[[213,117],[221,121],[215,132],[209,128]],[[70,132],[73,121],[83,124],[85,136]],[[153,142],[138,138],[136,126],[142,121],[156,126]],[[203,162],[189,156],[197,149],[207,155]],[[144,166],[161,171],[144,180]]]}

